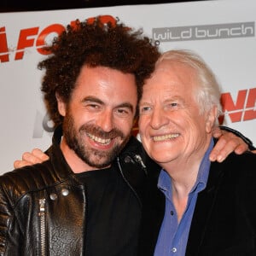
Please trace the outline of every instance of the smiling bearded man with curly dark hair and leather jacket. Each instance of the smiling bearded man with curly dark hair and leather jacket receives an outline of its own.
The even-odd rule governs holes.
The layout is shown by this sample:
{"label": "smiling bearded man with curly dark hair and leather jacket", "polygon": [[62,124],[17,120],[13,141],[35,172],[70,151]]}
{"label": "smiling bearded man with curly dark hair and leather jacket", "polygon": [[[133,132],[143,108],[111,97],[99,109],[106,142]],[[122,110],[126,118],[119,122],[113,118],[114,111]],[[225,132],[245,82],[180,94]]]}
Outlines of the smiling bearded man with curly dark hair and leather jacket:
{"label": "smiling bearded man with curly dark hair and leather jacket", "polygon": [[53,144],[48,160],[0,177],[0,255],[137,255],[146,192],[157,189],[148,171],[159,166],[131,128],[160,53],[100,19],[67,26],[46,50]]}

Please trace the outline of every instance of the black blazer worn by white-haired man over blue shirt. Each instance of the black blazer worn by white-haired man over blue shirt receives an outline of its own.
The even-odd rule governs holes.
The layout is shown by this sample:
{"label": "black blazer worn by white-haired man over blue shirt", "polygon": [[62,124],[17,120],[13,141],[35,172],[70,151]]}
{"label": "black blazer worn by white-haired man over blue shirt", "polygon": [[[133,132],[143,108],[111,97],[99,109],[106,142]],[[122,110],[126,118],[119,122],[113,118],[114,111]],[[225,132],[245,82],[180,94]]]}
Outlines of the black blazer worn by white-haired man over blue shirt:
{"label": "black blazer worn by white-haired man over blue shirt", "polygon": [[[158,174],[155,168],[155,186]],[[142,225],[139,255],[154,255],[164,216],[165,197],[153,191],[148,194],[151,206],[143,212],[147,222]],[[256,255],[256,154],[230,154],[223,163],[211,164],[207,188],[196,201],[186,256],[213,255]]]}

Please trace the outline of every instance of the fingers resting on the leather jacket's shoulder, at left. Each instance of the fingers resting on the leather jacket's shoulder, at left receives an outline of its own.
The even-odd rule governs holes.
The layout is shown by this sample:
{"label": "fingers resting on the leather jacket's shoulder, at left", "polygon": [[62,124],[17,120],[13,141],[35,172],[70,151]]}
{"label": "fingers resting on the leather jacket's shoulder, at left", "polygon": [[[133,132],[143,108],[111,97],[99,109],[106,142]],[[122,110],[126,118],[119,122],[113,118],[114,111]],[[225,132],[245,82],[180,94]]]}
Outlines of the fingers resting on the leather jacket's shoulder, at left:
{"label": "fingers resting on the leather jacket's shoulder, at left", "polygon": [[23,167],[23,166],[32,166],[34,164],[42,163],[45,160],[48,160],[49,157],[47,154],[38,148],[34,148],[32,153],[25,152],[22,154],[22,160],[15,160],[14,167],[15,169]]}

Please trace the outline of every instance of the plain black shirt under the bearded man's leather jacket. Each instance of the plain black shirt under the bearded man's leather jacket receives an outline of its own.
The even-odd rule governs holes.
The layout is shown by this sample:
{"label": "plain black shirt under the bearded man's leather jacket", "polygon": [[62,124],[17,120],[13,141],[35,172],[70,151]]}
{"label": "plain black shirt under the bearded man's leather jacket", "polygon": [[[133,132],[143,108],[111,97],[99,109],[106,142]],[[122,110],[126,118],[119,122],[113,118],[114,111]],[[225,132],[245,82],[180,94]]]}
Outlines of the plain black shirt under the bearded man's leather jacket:
{"label": "plain black shirt under the bearded man's leather jacket", "polygon": [[77,177],[85,184],[87,197],[85,254],[136,255],[141,209],[120,172],[110,167]]}

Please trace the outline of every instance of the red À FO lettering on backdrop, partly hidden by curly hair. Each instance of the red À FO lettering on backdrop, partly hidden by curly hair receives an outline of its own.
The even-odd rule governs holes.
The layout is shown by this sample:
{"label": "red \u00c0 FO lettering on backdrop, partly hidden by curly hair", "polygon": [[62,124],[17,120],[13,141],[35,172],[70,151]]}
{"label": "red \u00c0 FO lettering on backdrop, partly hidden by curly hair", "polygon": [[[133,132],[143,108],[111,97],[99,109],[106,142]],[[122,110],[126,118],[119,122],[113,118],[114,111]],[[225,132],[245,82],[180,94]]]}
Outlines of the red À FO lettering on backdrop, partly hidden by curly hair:
{"label": "red \u00c0 FO lettering on backdrop, partly hidden by curly hair", "polygon": [[[95,17],[87,19],[87,22],[91,23],[95,20]],[[100,17],[102,23],[111,22],[116,23],[116,19],[111,15],[102,15]],[[76,26],[76,20],[70,22],[71,26]],[[26,49],[36,48],[38,54],[49,55],[43,47],[45,46],[47,40],[56,37],[65,30],[65,26],[61,24],[50,24],[40,30],[39,26],[28,27],[20,29],[20,34],[17,39],[15,49],[10,49],[8,44],[8,32],[6,32],[5,26],[0,27],[0,62],[10,61],[10,52],[15,51],[14,60],[19,61],[24,58]]]}

